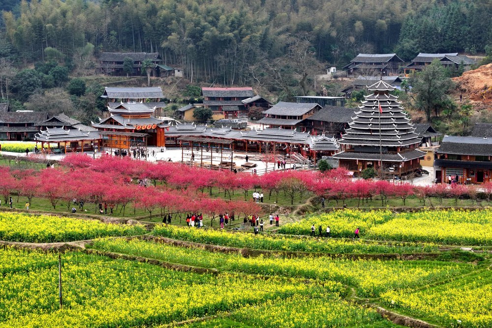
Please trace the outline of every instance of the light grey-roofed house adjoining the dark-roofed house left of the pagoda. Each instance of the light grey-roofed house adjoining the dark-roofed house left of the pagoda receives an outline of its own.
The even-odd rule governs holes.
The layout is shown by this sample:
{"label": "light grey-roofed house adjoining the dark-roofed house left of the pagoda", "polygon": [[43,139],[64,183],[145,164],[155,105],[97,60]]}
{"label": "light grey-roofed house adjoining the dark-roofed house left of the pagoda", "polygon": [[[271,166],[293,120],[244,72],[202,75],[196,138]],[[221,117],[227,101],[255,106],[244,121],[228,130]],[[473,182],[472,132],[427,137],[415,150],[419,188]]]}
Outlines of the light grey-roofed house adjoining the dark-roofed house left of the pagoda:
{"label": "light grey-roofed house adjoining the dark-roofed house left of the pagoda", "polygon": [[295,130],[301,122],[321,109],[317,103],[294,103],[280,101],[263,112],[265,117],[258,120],[262,127]]}

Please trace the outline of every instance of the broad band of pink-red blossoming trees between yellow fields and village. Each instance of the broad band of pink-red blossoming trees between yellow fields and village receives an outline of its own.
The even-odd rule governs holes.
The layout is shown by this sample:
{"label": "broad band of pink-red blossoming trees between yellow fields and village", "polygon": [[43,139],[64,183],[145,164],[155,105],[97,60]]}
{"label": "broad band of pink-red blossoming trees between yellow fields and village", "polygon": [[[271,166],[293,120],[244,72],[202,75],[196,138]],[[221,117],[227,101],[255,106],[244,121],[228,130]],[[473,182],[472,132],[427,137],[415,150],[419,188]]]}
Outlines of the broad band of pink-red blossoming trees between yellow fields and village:
{"label": "broad band of pink-red blossoming trees between yellow fields and village", "polygon": [[[358,205],[377,197],[384,206],[389,198],[400,198],[403,205],[410,196],[415,196],[425,206],[431,198],[442,202],[452,198],[472,201],[478,192],[490,201],[492,183],[474,186],[446,184],[413,186],[409,183],[391,183],[381,180],[352,180],[344,169],[319,171],[282,171],[263,176],[230,171],[214,171],[194,168],[176,163],[148,163],[113,156],[92,159],[86,155],[66,156],[56,169],[10,170],[0,167],[0,196],[5,203],[10,195],[28,198],[44,197],[55,209],[61,202],[70,209],[73,199],[85,203],[106,203],[124,211],[127,205],[141,208],[152,216],[156,212],[184,213],[202,212],[212,222],[219,213],[234,212],[238,215],[259,214],[261,208],[248,197],[252,190],[261,190],[265,199],[278,201],[279,193],[293,204],[298,197],[308,193],[319,197],[345,202],[357,199]],[[151,181],[147,187],[135,183],[137,180]],[[213,190],[223,194],[222,198],[212,197]],[[232,201],[231,194],[244,194],[244,201]]]}

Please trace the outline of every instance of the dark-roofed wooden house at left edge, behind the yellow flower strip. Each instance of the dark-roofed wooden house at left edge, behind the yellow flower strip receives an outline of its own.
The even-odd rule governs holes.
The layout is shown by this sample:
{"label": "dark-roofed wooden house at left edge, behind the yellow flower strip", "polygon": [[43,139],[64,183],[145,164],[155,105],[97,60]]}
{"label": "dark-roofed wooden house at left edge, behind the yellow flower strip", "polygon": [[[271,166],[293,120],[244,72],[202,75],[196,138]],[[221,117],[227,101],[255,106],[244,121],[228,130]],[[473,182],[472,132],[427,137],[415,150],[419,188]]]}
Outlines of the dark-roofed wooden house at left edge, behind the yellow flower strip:
{"label": "dark-roofed wooden house at left edge, behind the yellow flower strip", "polygon": [[39,123],[48,119],[45,112],[0,112],[0,139],[22,141],[34,139]]}

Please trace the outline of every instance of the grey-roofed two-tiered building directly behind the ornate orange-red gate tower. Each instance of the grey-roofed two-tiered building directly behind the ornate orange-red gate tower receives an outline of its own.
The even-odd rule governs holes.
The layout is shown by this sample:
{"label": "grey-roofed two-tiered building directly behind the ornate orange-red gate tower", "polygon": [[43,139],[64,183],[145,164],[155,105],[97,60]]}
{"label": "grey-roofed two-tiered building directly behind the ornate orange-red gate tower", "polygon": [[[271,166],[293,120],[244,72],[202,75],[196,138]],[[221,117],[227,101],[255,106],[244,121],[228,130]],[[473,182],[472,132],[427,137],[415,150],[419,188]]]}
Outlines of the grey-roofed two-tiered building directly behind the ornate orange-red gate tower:
{"label": "grey-roofed two-tiered building directly behind the ornate orange-red gate tower", "polygon": [[109,108],[116,108],[121,103],[143,103],[149,108],[155,108],[153,116],[163,117],[163,108],[166,103],[161,101],[164,99],[164,94],[160,87],[106,87],[101,98],[107,100]]}

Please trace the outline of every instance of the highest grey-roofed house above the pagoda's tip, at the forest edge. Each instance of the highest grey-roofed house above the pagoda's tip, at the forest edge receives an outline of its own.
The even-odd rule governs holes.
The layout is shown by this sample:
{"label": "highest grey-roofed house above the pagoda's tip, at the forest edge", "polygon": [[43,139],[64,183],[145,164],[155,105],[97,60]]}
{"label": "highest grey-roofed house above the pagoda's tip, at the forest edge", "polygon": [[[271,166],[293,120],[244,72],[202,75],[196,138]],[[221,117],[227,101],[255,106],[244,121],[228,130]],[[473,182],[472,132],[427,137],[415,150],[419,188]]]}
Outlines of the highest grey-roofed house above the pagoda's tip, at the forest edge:
{"label": "highest grey-roofed house above the pagoda's tip, at the forest edge", "polygon": [[359,54],[343,67],[350,76],[398,75],[403,60],[396,54]]}

